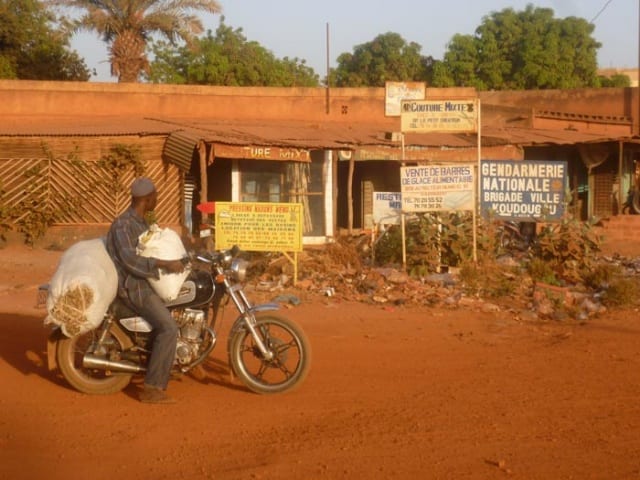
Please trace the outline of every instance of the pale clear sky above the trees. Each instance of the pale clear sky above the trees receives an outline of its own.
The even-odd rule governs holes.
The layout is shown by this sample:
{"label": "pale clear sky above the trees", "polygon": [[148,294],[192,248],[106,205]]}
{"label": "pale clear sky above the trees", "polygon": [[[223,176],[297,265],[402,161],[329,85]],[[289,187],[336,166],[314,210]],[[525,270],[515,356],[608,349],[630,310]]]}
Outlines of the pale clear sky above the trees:
{"label": "pale clear sky above the trees", "polygon": [[[387,32],[422,46],[422,55],[442,59],[456,33],[473,34],[483,17],[527,4],[551,8],[556,18],[576,16],[595,24],[593,36],[601,68],[638,66],[640,0],[219,0],[225,24],[242,28],[278,58],[306,60],[320,77],[337,57]],[[199,14],[205,31],[218,27],[220,15]],[[328,35],[327,35],[328,33]],[[328,38],[328,41],[327,41]],[[328,48],[327,48],[328,44]],[[107,47],[92,33],[74,36],[71,47],[95,69],[95,82],[115,82]],[[327,55],[328,50],[328,55]]]}

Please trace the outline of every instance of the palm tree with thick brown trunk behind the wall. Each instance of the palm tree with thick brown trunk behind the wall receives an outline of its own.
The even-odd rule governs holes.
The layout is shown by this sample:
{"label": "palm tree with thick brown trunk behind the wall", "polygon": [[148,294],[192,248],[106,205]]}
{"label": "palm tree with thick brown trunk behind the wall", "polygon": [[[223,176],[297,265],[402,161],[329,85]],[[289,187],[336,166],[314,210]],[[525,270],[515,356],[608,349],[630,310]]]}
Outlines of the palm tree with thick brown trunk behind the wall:
{"label": "palm tree with thick brown trunk behind the wall", "polygon": [[172,44],[190,44],[203,32],[202,22],[190,12],[220,13],[216,0],[48,0],[50,5],[82,10],[74,31],[95,31],[109,47],[111,75],[119,82],[137,82],[148,72],[147,42],[153,34]]}

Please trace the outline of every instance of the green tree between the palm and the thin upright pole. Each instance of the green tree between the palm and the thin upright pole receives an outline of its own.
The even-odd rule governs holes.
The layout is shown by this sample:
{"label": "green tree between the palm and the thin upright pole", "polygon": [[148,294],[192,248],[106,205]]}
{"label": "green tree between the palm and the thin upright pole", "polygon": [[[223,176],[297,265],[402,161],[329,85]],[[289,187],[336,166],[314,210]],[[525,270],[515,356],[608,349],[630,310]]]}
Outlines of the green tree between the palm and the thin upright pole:
{"label": "green tree between the palm and the thin upright pole", "polygon": [[174,47],[167,42],[153,45],[155,60],[149,80],[227,86],[318,86],[318,75],[304,60],[280,60],[259,43],[247,41],[242,29],[224,23],[215,35],[207,32],[191,46]]}

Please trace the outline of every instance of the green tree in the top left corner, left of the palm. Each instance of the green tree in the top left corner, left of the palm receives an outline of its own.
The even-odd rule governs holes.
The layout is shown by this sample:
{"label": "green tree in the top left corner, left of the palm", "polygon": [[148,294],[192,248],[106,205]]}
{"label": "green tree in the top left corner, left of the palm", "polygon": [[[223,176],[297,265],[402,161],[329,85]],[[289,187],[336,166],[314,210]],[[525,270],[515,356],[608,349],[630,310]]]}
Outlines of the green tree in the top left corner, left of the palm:
{"label": "green tree in the top left corner, left of the palm", "polygon": [[0,78],[77,80],[90,77],[69,49],[70,36],[36,0],[0,0]]}

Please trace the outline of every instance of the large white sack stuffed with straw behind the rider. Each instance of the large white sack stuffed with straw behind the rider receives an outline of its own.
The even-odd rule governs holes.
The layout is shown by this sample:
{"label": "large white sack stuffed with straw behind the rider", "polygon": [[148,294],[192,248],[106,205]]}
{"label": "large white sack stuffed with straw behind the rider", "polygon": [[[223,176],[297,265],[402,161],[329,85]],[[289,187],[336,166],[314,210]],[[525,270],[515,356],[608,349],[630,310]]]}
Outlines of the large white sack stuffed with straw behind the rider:
{"label": "large white sack stuffed with straw behind the rider", "polygon": [[47,295],[47,318],[72,337],[102,322],[118,291],[118,272],[104,239],[83,240],[62,255]]}

